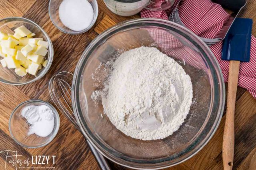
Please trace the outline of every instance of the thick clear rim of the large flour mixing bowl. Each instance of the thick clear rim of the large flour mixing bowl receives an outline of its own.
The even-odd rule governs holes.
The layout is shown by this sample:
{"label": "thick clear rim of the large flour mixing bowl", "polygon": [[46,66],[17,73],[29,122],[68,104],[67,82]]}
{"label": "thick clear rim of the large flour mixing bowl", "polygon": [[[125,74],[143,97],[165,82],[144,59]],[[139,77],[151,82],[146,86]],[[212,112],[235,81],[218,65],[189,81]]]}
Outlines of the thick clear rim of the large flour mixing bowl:
{"label": "thick clear rim of the large flour mixing bowl", "polygon": [[[160,160],[159,162],[157,160],[142,161],[142,160],[138,160],[138,159],[136,160],[136,159],[128,158],[128,156],[123,156],[122,154],[120,154],[116,151],[108,149],[106,146],[104,146],[104,144],[102,144],[102,142],[100,142],[96,138],[96,136],[93,135],[93,133],[87,127],[88,125],[86,125],[86,121],[84,121],[83,115],[80,112],[80,110],[81,110],[80,101],[79,101],[80,76],[82,75],[82,71],[83,71],[84,65],[86,64],[86,61],[87,61],[87,59],[90,55],[90,51],[93,51],[96,48],[95,46],[100,45],[102,42],[104,42],[107,38],[111,37],[113,34],[115,34],[117,32],[121,32],[122,30],[126,30],[128,28],[133,28],[132,26],[134,26],[136,24],[144,23],[144,22],[148,22],[148,23],[145,24],[146,26],[156,26],[156,25],[158,25],[158,27],[161,28],[163,25],[165,25],[165,26],[168,25],[169,28],[173,28],[174,30],[177,30],[177,28],[181,29],[182,31],[179,31],[179,32],[187,33],[187,35],[185,35],[185,36],[182,35],[182,36],[184,36],[185,38],[188,38],[190,40],[190,42],[191,42],[192,39],[194,39],[194,40],[192,40],[192,42],[196,43],[198,45],[198,47],[202,49],[201,52],[205,51],[204,53],[206,55],[208,54],[208,56],[209,56],[208,58],[211,60],[210,63],[208,62],[208,64],[211,64],[214,67],[216,67],[213,70],[214,70],[214,73],[216,74],[216,77],[217,77],[218,81],[214,82],[215,83],[214,85],[215,86],[217,85],[216,87],[218,88],[219,91],[214,89],[214,92],[217,91],[218,93],[220,93],[220,94],[216,94],[216,93],[212,92],[212,96],[214,96],[215,98],[220,100],[220,103],[219,103],[219,105],[217,106],[217,109],[216,109],[217,110],[216,119],[214,120],[214,123],[213,123],[212,127],[208,131],[208,135],[206,135],[206,138],[204,138],[202,140],[202,143],[199,144],[198,148],[196,148],[195,150],[191,149],[191,150],[193,150],[193,152],[190,155],[183,158],[182,160],[179,160],[178,162],[174,162],[174,164],[168,164],[168,161],[172,160],[172,159],[170,159],[171,158],[170,156],[167,157],[167,158],[157,159],[157,160]],[[154,23],[155,25],[150,25],[150,22]],[[139,26],[145,26],[145,25],[139,25]],[[174,28],[174,27],[176,27],[176,28]],[[112,26],[111,28],[109,28],[106,31],[99,34],[86,47],[86,49],[82,53],[82,57],[78,61],[78,64],[77,64],[75,72],[74,72],[73,83],[72,83],[72,105],[73,105],[73,110],[74,110],[74,113],[75,113],[74,115],[76,117],[76,120],[78,121],[78,125],[79,125],[80,129],[82,130],[84,136],[86,136],[86,138],[88,140],[90,140],[92,145],[101,154],[103,154],[106,158],[112,160],[113,162],[116,162],[117,164],[120,164],[120,165],[128,167],[128,168],[160,169],[160,168],[167,168],[167,167],[170,167],[170,166],[174,166],[176,164],[180,164],[181,162],[184,162],[184,161],[188,160],[189,158],[194,156],[196,153],[198,153],[209,142],[209,140],[212,138],[212,136],[216,132],[216,130],[218,128],[218,125],[220,124],[222,114],[223,114],[223,111],[224,111],[224,103],[225,103],[225,88],[224,87],[225,87],[225,85],[224,85],[223,75],[222,75],[222,72],[221,72],[221,69],[220,69],[220,66],[218,64],[218,61],[217,61],[216,57],[214,56],[214,54],[212,53],[210,48],[198,36],[196,36],[196,34],[194,34],[192,31],[188,30],[187,28],[184,28],[184,27],[182,27],[182,26],[180,26],[176,23],[170,22],[168,20],[162,20],[162,19],[158,19],[158,18],[139,18],[139,19],[127,20],[127,21],[121,22],[121,23],[119,23],[115,26]],[[213,101],[211,99],[211,103],[215,103],[215,102],[216,101]],[[212,105],[214,105],[214,104],[212,104]],[[192,146],[192,145],[193,144],[190,144],[190,146]],[[190,152],[191,152],[191,150],[190,150]],[[178,157],[176,157],[176,158],[178,158]],[[134,162],[134,160],[136,160],[136,161]],[[128,165],[125,164],[127,162],[129,163]],[[131,166],[131,164],[133,166]],[[150,166],[142,166],[142,165],[146,165],[146,164],[149,164]],[[164,164],[164,165],[161,166],[161,164]]]}

